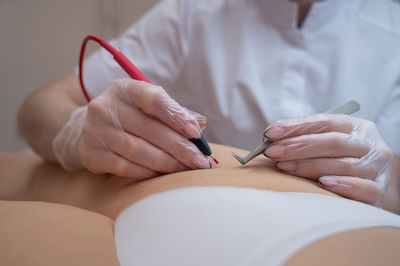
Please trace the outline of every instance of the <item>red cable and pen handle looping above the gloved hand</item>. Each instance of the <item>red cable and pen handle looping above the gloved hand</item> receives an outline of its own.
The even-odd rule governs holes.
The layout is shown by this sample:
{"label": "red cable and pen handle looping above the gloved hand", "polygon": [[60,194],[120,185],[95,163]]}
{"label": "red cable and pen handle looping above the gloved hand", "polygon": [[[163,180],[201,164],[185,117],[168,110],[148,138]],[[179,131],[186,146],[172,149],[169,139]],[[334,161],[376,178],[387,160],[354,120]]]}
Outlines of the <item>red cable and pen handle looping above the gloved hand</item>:
{"label": "red cable and pen handle looping above the gloved hand", "polygon": [[89,35],[83,40],[82,47],[81,47],[81,53],[79,55],[79,82],[81,83],[83,95],[85,95],[85,98],[88,102],[90,102],[91,99],[90,99],[89,93],[86,90],[85,84],[83,82],[83,59],[85,57],[85,50],[86,50],[87,42],[90,40],[97,42],[98,44],[100,44],[101,47],[103,47],[110,54],[112,54],[114,56],[114,60],[122,67],[123,70],[125,70],[125,72],[131,78],[151,83],[146,78],[146,76],[143,75],[142,72],[140,72],[139,69],[131,61],[129,61],[129,59],[122,52],[115,49],[107,41],[102,40],[96,36]]}

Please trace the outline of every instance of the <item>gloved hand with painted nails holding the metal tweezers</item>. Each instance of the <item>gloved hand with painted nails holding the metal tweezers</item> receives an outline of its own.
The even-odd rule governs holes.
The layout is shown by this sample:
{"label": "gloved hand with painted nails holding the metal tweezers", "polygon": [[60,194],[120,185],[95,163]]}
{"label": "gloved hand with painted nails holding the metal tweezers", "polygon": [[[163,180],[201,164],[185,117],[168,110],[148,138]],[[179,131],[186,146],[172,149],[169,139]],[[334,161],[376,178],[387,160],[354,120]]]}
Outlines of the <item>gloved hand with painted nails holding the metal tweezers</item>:
{"label": "gloved hand with painted nails holding the metal tweezers", "polygon": [[264,136],[273,141],[265,155],[280,170],[318,180],[344,197],[380,204],[393,155],[371,121],[318,114],[277,121]]}

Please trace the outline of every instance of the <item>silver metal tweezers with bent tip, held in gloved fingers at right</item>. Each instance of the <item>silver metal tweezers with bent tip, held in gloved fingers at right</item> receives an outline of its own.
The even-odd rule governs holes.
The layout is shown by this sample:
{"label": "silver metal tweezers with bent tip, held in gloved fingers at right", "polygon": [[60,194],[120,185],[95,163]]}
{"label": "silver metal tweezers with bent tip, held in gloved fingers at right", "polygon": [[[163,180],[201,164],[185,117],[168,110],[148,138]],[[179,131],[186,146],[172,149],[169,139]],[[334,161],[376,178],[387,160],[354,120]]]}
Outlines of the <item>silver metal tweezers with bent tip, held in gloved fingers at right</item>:
{"label": "silver metal tweezers with bent tip, held in gloved fingers at right", "polygon": [[[326,111],[326,114],[345,114],[345,115],[351,115],[352,113],[357,112],[360,110],[360,104],[356,101],[349,101],[345,104],[339,105],[331,110]],[[236,160],[238,160],[242,165],[245,165],[258,155],[264,153],[266,149],[272,144],[271,141],[267,140],[263,143],[261,143],[257,148],[252,150],[249,154],[247,154],[245,157],[241,157],[237,155],[236,153],[232,152],[233,157],[235,157]]]}

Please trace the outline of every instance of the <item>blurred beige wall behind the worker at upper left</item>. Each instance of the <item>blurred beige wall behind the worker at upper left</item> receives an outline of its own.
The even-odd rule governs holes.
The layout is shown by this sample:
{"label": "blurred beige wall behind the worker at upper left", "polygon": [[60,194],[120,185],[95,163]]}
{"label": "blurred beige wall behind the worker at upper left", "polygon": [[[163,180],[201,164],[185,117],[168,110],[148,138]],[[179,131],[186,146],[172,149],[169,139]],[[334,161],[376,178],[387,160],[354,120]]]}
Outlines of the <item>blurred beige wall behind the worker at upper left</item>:
{"label": "blurred beige wall behind the worker at upper left", "polygon": [[73,71],[86,35],[111,39],[158,1],[0,0],[0,151],[27,148],[18,136],[19,106]]}

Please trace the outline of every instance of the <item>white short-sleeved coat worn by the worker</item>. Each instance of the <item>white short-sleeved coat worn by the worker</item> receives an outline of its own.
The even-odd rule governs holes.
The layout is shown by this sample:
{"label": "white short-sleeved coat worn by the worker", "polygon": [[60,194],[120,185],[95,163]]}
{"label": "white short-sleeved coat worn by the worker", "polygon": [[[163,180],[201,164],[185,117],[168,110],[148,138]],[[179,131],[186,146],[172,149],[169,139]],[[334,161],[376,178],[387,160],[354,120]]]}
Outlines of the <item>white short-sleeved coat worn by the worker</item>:
{"label": "white short-sleeved coat worn by the worker", "polygon": [[[296,24],[285,0],[164,0],[112,43],[208,118],[208,141],[251,149],[276,120],[357,100],[400,154],[400,4],[326,0]],[[84,75],[92,97],[127,76],[104,50]]]}

